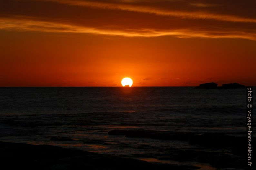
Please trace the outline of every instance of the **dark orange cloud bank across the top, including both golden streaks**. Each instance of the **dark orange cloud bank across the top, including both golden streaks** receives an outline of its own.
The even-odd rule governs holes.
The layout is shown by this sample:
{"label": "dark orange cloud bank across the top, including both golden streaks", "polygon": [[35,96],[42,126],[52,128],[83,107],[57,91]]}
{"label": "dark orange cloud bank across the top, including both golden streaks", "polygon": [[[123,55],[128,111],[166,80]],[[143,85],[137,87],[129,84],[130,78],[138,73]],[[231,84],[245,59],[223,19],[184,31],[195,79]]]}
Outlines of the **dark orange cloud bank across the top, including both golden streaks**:
{"label": "dark orange cloud bank across the top, including both golden streaks", "polygon": [[256,40],[255,1],[3,0],[0,29]]}

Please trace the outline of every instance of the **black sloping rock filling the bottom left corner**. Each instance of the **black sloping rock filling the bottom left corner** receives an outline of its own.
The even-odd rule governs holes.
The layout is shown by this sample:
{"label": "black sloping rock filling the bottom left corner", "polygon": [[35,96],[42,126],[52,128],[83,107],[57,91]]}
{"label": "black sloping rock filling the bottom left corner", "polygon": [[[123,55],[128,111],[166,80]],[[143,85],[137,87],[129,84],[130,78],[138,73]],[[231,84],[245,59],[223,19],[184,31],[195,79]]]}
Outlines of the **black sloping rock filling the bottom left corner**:
{"label": "black sloping rock filling the bottom left corner", "polygon": [[0,142],[1,167],[26,170],[192,170],[195,166],[150,163],[141,160],[66,149],[51,145]]}

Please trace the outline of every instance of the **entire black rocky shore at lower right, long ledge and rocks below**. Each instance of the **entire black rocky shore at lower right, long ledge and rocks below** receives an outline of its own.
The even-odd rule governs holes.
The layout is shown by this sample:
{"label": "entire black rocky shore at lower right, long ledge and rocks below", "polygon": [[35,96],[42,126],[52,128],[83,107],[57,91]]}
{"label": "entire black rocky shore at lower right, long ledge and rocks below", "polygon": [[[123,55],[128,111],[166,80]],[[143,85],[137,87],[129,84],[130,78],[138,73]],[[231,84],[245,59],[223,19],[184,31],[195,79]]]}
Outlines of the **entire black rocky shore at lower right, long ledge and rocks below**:
{"label": "entire black rocky shore at lower right, long ledge and rocks below", "polygon": [[[245,141],[247,140],[245,136],[238,137],[226,133],[197,134],[188,132],[180,133],[173,131],[143,129],[116,129],[111,130],[108,133],[109,135],[124,135],[128,138],[188,141],[191,145],[199,146],[196,149],[181,148],[170,151],[169,158],[179,162],[196,161],[210,164],[211,166],[219,169],[243,169],[243,167],[245,167],[244,165],[246,165],[246,152],[244,152],[244,149],[242,148],[242,146],[245,144]],[[252,140],[252,145],[254,145],[255,139]]]}

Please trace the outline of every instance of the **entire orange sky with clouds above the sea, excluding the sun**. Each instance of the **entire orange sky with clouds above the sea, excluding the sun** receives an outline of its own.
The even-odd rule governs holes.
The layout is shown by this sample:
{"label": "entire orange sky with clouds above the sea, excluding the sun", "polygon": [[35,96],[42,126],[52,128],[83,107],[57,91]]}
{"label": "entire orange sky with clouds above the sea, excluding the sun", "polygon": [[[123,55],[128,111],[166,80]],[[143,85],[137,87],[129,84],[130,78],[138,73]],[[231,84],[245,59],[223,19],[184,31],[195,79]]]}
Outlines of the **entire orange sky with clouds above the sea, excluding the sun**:
{"label": "entire orange sky with clouds above the sea, excluding the sun", "polygon": [[255,5],[3,0],[0,86],[255,86]]}

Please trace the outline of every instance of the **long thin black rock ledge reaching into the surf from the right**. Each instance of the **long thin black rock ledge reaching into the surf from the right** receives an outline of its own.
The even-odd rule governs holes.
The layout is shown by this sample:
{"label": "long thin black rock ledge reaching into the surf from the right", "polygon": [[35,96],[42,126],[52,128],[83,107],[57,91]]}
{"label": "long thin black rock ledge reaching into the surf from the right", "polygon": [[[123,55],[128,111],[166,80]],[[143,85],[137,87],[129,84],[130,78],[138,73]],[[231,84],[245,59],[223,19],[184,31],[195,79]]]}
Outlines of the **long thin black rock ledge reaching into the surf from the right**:
{"label": "long thin black rock ledge reaching into the surf from the right", "polygon": [[[246,137],[235,137],[225,133],[189,133],[189,132],[174,132],[162,130],[110,130],[109,135],[125,135],[133,138],[151,138],[161,140],[182,140],[189,141],[190,144],[196,144],[204,147],[236,147],[244,144],[247,141]],[[253,138],[253,143],[256,138]]]}

